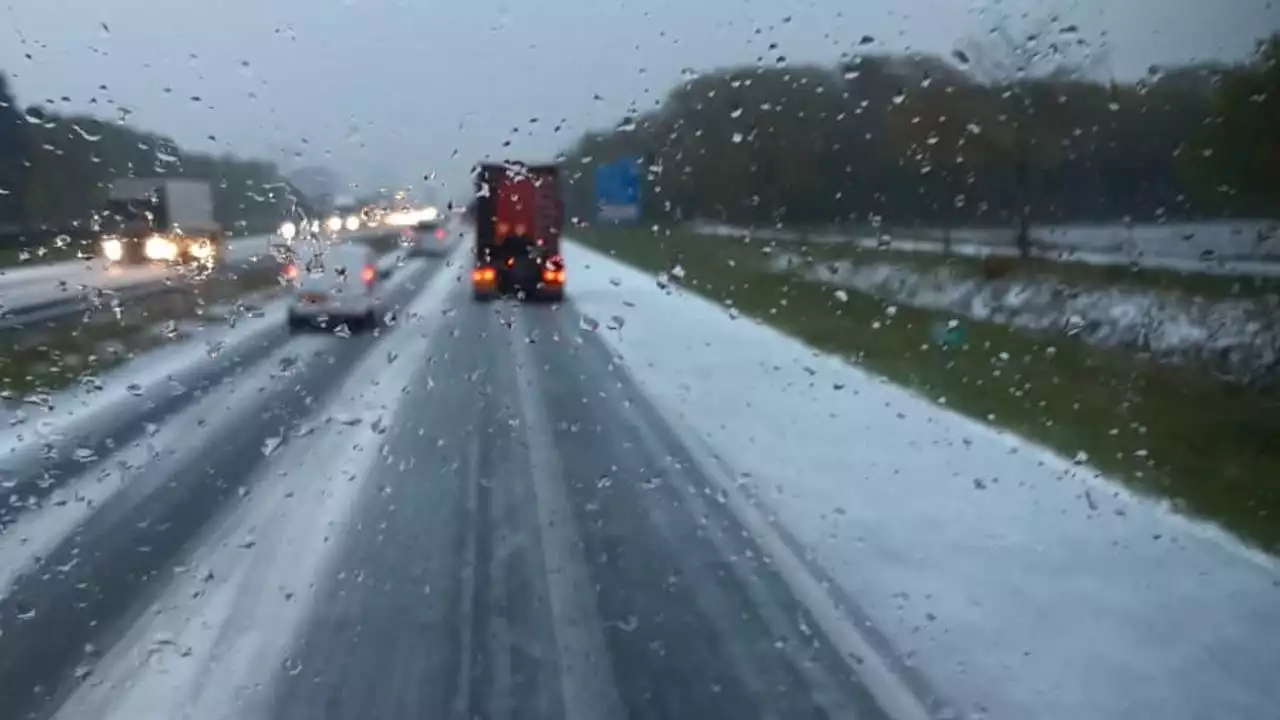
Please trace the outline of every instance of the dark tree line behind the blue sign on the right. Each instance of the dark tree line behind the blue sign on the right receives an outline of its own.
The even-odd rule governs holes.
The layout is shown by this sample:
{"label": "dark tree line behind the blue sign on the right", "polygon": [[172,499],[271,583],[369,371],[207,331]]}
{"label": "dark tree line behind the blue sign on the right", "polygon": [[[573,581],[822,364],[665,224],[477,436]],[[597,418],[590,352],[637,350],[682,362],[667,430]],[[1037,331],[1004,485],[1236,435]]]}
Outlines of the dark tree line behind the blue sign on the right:
{"label": "dark tree line behind the blue sign on the right", "polygon": [[[1043,44],[1041,44],[1043,45]],[[564,155],[567,205],[595,217],[595,168],[637,158],[646,222],[922,225],[1280,214],[1280,35],[1249,61],[1089,79],[1021,40],[951,56],[737,67]]]}

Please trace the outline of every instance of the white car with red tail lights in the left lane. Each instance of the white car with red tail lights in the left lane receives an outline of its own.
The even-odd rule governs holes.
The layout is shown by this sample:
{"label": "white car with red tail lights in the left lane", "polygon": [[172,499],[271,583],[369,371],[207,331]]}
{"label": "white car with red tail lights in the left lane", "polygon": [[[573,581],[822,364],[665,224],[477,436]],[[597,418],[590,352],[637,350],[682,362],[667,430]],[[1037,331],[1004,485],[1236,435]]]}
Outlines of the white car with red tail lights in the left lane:
{"label": "white car with red tail lights in the left lane", "polygon": [[284,270],[291,292],[289,331],[376,327],[383,281],[390,277],[390,268],[379,269],[378,260],[371,247],[358,242],[298,249]]}

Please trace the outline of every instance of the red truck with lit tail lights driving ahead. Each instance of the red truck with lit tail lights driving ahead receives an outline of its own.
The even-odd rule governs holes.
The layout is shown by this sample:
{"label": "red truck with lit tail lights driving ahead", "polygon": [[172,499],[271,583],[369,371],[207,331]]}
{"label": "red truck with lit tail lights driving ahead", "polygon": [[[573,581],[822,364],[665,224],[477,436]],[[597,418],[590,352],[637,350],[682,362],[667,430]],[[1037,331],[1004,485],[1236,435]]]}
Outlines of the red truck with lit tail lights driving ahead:
{"label": "red truck with lit tail lights driving ahead", "polygon": [[515,295],[524,300],[564,297],[561,231],[564,202],[559,168],[483,163],[475,178],[476,300]]}

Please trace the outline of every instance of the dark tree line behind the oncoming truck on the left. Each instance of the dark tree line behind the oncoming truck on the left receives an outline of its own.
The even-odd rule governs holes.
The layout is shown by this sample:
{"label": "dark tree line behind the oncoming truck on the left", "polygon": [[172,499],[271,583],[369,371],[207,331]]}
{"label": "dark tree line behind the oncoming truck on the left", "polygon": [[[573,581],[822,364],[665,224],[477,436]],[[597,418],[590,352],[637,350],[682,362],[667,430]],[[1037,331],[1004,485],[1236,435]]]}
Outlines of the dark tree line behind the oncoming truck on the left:
{"label": "dark tree line behind the oncoming truck on the left", "polygon": [[113,178],[154,176],[210,181],[228,232],[269,232],[307,205],[273,163],[188,152],[159,133],[22,108],[0,73],[0,234],[87,232]]}

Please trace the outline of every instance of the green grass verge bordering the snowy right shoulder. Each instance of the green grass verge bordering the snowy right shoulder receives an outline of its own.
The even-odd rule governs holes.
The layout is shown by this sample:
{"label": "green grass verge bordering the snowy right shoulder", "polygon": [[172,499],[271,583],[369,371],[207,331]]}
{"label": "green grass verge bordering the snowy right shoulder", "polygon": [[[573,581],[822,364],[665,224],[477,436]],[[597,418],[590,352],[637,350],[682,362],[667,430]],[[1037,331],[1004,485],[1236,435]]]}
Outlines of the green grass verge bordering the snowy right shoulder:
{"label": "green grass verge bordering the snowy right shoulder", "polygon": [[1280,395],[1193,369],[964,320],[771,273],[767,243],[691,233],[591,229],[575,240],[630,265],[685,270],[681,284],[768,322],[960,413],[1006,427],[1174,506],[1280,551]]}

